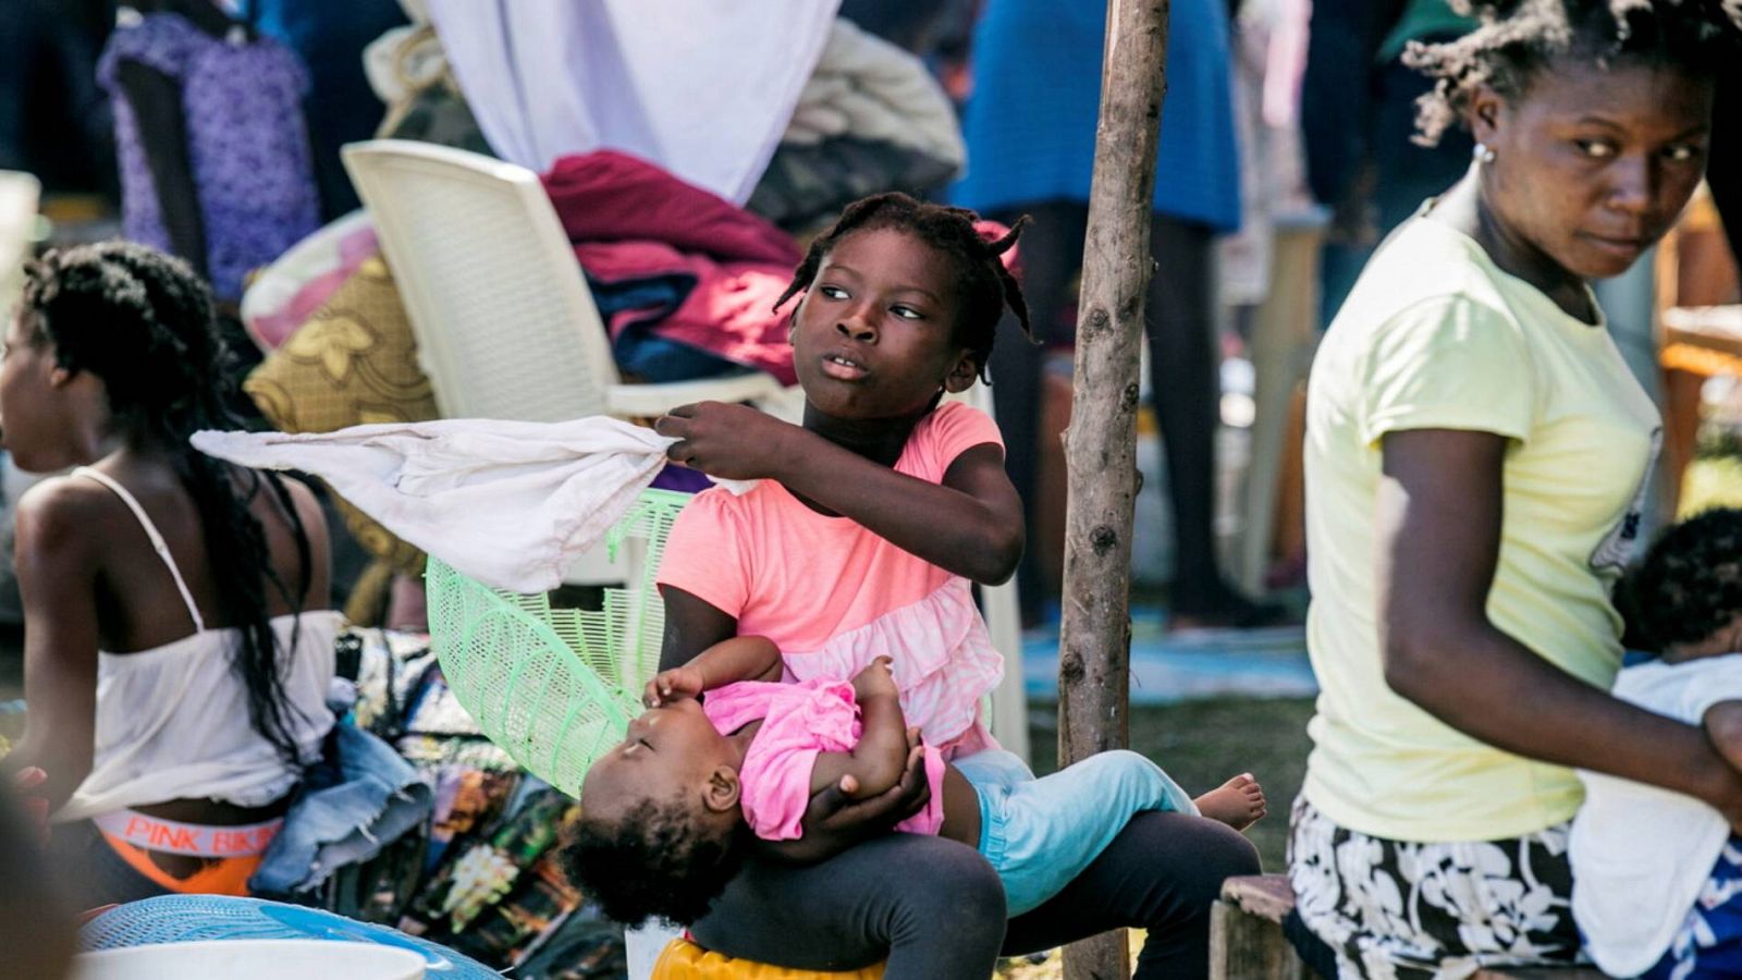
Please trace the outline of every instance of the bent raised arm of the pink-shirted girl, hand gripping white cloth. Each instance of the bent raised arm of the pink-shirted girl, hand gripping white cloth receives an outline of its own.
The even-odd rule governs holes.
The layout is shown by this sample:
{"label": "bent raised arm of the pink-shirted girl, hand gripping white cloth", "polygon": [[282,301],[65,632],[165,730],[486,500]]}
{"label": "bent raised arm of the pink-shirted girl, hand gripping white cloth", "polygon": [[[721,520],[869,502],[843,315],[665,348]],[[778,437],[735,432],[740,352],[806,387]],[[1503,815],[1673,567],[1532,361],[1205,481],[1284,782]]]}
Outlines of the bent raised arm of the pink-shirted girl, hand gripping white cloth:
{"label": "bent raised arm of the pink-shirted girl, hand gripping white cloth", "polygon": [[852,518],[878,537],[967,579],[995,586],[1023,558],[1023,500],[1003,450],[970,446],[928,483],[742,405],[704,401],[658,420],[681,439],[671,459],[723,480],[779,480],[793,493]]}

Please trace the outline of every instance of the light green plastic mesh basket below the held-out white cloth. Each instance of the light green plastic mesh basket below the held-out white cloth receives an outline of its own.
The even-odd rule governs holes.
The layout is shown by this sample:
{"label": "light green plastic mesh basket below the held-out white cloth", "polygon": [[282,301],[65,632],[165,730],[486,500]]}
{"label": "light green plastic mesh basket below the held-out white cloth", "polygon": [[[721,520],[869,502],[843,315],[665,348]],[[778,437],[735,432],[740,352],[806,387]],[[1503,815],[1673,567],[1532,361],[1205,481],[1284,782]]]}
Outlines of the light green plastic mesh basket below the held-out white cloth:
{"label": "light green plastic mesh basket below the held-out white cloth", "polygon": [[624,588],[601,610],[493,589],[430,555],[430,645],[455,699],[528,772],[580,795],[587,767],[624,739],[658,671],[665,605],[653,586],[688,493],[645,490],[606,535]]}

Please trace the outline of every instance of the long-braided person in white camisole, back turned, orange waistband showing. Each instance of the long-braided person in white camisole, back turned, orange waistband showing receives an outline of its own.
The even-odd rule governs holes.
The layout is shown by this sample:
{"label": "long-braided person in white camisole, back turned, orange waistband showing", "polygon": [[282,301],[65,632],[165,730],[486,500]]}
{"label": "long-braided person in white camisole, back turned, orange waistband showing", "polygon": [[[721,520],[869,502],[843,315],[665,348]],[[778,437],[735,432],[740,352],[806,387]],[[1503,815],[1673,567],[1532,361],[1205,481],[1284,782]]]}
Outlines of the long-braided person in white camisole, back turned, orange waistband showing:
{"label": "long-braided person in white camisole, back turned, orange waistband showing", "polygon": [[195,452],[235,429],[213,300],[103,242],[28,269],[0,439],[70,476],[17,502],[30,718],[51,851],[85,903],[246,895],[333,725],[327,537],[307,487]]}

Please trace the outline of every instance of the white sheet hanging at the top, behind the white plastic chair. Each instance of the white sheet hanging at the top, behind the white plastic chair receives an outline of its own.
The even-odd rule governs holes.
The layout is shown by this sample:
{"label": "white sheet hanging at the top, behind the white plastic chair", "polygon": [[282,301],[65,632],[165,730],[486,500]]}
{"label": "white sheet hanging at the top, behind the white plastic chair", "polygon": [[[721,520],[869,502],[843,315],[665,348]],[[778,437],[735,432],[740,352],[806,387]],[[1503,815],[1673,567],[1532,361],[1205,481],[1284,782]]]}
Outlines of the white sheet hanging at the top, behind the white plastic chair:
{"label": "white sheet hanging at the top, behind the white plastic chair", "polygon": [[625,150],[744,204],[840,0],[429,0],[484,138],[550,169]]}

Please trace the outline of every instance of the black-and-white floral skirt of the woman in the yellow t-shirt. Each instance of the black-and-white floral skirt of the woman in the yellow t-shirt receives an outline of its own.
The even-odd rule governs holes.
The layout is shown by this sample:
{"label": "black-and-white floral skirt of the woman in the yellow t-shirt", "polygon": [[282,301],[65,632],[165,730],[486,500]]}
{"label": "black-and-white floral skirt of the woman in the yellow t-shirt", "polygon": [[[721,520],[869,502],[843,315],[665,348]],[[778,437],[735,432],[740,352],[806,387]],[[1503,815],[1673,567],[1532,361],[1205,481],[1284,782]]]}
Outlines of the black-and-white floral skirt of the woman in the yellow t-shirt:
{"label": "black-and-white floral skirt of the woman in the yellow t-shirt", "polygon": [[1465,980],[1488,966],[1580,963],[1568,827],[1512,840],[1411,844],[1345,830],[1294,800],[1294,910],[1341,980]]}

